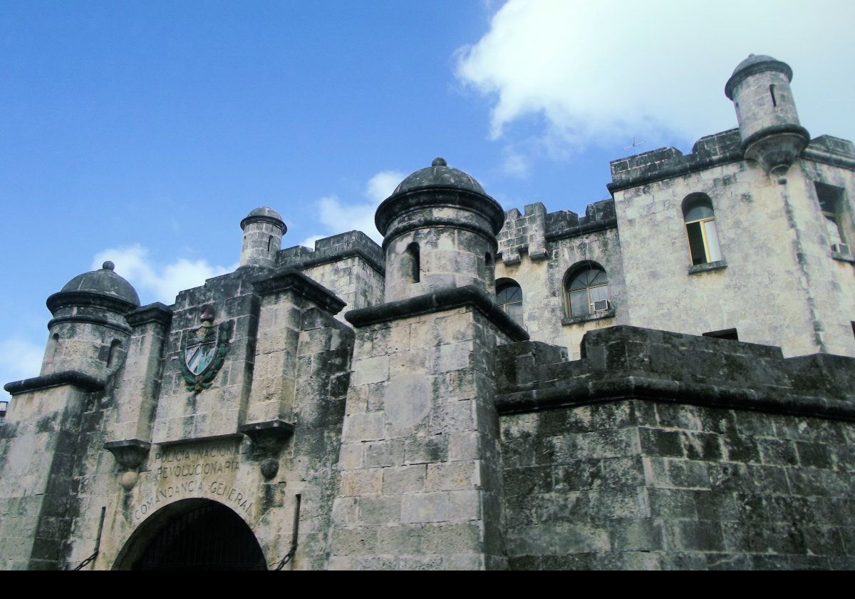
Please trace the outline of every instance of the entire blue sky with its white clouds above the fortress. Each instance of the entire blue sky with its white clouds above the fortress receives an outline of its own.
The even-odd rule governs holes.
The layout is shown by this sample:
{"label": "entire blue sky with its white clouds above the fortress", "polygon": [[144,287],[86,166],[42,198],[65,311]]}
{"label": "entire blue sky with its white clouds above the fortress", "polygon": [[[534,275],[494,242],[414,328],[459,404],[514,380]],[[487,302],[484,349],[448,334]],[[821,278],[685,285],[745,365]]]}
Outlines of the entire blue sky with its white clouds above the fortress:
{"label": "entire blue sky with its white clouds above the fortress", "polygon": [[853,7],[7,0],[0,380],[38,373],[72,276],[109,258],[169,304],[233,267],[259,205],[286,247],[369,228],[441,155],[506,208],[584,211],[634,136],[689,151],[734,127],[722,89],[750,52],[793,66],[813,135],[852,139]]}

